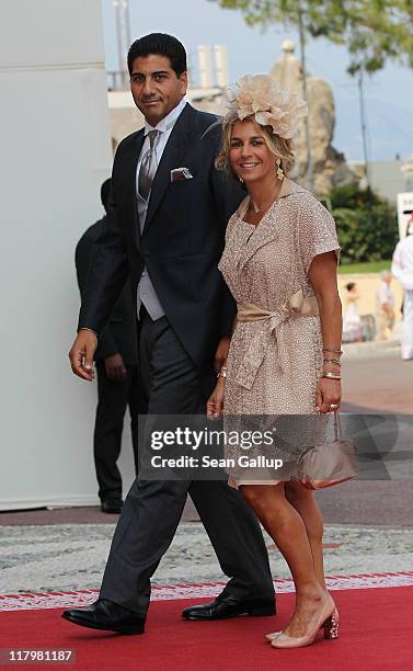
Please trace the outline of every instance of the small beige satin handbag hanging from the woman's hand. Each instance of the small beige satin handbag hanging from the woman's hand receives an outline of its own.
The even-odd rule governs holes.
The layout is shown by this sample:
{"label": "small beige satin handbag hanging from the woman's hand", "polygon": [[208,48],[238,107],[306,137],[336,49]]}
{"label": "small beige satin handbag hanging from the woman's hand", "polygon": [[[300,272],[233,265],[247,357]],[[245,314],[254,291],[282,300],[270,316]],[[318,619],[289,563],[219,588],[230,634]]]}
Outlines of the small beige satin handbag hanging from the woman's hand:
{"label": "small beige satin handbag hanging from the woman's hand", "polygon": [[317,445],[298,462],[298,480],[307,489],[325,489],[357,475],[356,446],[343,439],[339,412],[334,412],[334,442]]}

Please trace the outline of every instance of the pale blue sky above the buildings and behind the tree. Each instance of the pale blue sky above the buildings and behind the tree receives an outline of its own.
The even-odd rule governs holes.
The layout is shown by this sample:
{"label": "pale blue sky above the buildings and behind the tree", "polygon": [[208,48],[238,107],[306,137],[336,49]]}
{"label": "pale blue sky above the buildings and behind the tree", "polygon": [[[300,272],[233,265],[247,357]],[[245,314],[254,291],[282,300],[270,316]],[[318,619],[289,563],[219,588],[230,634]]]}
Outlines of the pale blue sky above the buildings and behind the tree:
{"label": "pale blue sky above the buildings and behind the tree", "polygon": [[[113,0],[103,7],[106,68],[118,69]],[[268,72],[282,55],[284,39],[296,33],[283,26],[262,32],[250,27],[238,10],[223,10],[211,0],[129,0],[131,38],[151,32],[175,35],[185,45],[188,61],[196,66],[199,44],[225,44],[230,82],[246,73]],[[308,70],[326,79],[333,89],[336,124],[333,145],[347,160],[363,160],[359,98],[356,81],[346,73],[345,48],[324,38],[309,39]],[[402,159],[413,152],[413,70],[389,64],[366,80],[365,100],[370,160]]]}

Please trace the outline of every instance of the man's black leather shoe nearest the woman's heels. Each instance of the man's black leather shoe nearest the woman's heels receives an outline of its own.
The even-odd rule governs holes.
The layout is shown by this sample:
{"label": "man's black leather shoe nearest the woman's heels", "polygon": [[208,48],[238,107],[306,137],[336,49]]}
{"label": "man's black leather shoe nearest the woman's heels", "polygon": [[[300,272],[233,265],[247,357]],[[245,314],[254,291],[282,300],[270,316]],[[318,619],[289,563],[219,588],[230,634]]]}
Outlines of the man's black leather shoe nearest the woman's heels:
{"label": "man's black leather shoe nearest the woman's heels", "polygon": [[219,594],[211,603],[190,606],[182,613],[185,619],[228,619],[237,615],[275,615],[275,602]]}

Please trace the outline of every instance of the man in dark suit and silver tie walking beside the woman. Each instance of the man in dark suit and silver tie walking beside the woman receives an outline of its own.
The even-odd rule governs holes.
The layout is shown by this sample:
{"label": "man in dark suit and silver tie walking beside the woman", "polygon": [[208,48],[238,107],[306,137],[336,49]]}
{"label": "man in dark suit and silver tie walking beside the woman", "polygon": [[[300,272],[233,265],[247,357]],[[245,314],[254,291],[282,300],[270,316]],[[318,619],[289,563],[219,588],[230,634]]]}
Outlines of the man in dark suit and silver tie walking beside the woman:
{"label": "man in dark suit and silver tie walking beside the woman", "polygon": [[[230,214],[242,198],[215,169],[216,117],[185,103],[183,45],[159,33],[128,54],[130,88],[145,128],[119,145],[104,235],[95,244],[70,352],[91,380],[97,337],[130,272],[139,308],[139,394],[148,414],[205,412],[225,361],[234,304],[217,269]],[[150,578],[170,546],[190,493],[225,573],[210,604],[183,613],[218,619],[275,612],[268,557],[257,521],[225,481],[137,479],[122,510],[99,601],[64,613],[76,624],[142,633]]]}

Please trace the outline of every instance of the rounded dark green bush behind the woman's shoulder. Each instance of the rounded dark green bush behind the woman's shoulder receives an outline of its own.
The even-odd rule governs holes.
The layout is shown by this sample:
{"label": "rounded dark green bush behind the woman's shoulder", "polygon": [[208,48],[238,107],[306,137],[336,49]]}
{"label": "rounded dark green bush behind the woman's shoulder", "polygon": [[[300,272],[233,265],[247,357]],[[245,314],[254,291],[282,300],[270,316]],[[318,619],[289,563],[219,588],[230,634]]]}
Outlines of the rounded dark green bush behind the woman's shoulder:
{"label": "rounded dark green bush behind the woman's shoulder", "polygon": [[395,207],[357,186],[340,186],[329,194],[337,226],[342,263],[390,259],[399,239]]}

